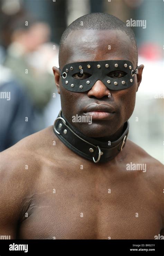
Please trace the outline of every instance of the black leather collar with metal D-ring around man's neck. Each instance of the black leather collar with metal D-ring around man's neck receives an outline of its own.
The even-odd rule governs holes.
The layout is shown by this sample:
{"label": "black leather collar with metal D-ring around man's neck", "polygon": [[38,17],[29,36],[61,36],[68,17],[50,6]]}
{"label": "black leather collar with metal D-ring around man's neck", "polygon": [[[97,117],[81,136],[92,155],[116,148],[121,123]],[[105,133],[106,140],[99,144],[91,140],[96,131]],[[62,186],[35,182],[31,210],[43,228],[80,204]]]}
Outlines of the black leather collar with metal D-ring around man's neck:
{"label": "black leather collar with metal D-ring around man's neck", "polygon": [[66,121],[62,111],[60,111],[54,122],[53,130],[56,136],[76,154],[94,163],[105,163],[115,158],[124,148],[129,132],[129,122],[127,121],[124,124],[124,131],[121,137],[111,142],[110,146],[107,143],[83,135],[77,128]]}

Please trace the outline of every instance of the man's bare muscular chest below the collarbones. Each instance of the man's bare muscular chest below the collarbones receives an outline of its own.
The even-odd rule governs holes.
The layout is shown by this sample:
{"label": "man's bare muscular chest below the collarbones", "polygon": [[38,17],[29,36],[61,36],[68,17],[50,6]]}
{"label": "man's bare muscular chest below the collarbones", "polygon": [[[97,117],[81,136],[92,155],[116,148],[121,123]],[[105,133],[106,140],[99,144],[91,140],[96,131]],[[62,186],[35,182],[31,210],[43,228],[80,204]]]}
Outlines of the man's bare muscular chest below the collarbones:
{"label": "man's bare muscular chest below the collarbones", "polygon": [[42,177],[20,239],[154,239],[160,233],[157,202],[139,176],[87,179],[80,172]]}

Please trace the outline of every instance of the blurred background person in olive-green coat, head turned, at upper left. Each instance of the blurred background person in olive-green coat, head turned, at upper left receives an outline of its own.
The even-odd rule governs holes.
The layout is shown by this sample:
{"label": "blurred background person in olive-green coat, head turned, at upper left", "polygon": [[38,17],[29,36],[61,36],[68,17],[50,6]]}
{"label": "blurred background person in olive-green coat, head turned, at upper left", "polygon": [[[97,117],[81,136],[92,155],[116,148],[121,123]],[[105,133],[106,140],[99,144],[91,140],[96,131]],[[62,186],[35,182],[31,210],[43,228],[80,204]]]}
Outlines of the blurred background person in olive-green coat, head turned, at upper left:
{"label": "blurred background person in olive-green coat, head turned, at upper left", "polygon": [[20,85],[24,87],[34,106],[37,130],[40,130],[45,127],[43,111],[51,99],[54,79],[43,65],[48,61],[49,52],[48,54],[44,52],[45,62],[36,61],[37,66],[30,63],[30,58],[32,59],[33,53],[40,46],[49,41],[50,28],[45,22],[25,15],[13,20],[10,25],[11,43],[7,49],[4,65],[13,71]]}

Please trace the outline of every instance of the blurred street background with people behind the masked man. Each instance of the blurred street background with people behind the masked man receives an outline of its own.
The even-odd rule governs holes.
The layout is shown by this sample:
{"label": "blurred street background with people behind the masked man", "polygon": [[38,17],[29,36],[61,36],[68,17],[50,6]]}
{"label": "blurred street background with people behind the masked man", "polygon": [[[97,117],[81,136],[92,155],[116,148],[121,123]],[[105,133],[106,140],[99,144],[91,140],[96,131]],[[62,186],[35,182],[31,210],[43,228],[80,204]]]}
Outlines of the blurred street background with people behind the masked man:
{"label": "blurred street background with people behind the masked man", "polygon": [[126,20],[132,27],[143,80],[131,116],[129,139],[164,163],[163,0],[0,0],[0,151],[52,125],[61,109],[52,67],[65,28],[91,12]]}

